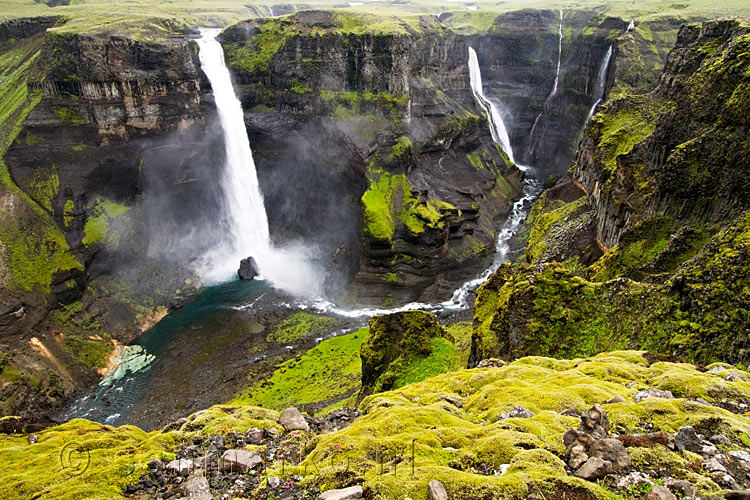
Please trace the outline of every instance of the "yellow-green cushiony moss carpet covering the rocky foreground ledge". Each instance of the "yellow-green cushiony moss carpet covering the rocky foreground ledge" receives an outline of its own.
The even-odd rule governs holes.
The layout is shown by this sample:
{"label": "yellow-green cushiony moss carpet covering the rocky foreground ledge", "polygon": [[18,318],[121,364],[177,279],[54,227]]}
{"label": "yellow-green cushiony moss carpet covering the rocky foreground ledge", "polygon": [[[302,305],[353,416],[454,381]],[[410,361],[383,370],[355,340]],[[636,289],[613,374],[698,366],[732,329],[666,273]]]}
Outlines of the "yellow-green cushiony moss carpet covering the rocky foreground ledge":
{"label": "yellow-green cushiony moss carpet covering the rocky foreground ledge", "polygon": [[[725,380],[732,372],[729,378],[734,380]],[[432,479],[445,484],[450,498],[611,498],[613,493],[638,497],[642,490],[618,490],[614,477],[589,482],[567,474],[562,435],[578,427],[579,419],[561,412],[583,411],[619,396],[624,402],[603,404],[615,434],[673,433],[692,425],[707,436],[726,436],[728,444],[720,445],[720,452],[728,453],[750,442],[750,419],[720,406],[736,408],[750,401],[746,380],[750,373],[733,367],[699,371],[635,351],[576,360],[527,357],[371,395],[359,406],[362,415],[342,430],[284,434],[280,448],[303,451],[295,456],[277,454],[255,475],[279,477],[281,484],[300,476],[293,481],[292,491],[300,494],[294,498],[306,498],[303,489],[358,483],[368,498],[425,499]],[[675,399],[635,402],[643,389],[669,390]],[[535,415],[505,418],[504,413],[519,405]],[[283,433],[277,421],[278,414],[270,410],[225,405],[152,433],[73,420],[39,432],[35,444],[29,444],[26,435],[7,435],[0,439],[5,478],[0,496],[117,498],[126,484],[147,470],[148,461],[173,458],[182,442],[209,434],[228,439],[232,431],[253,427]],[[307,445],[300,447],[300,439]],[[633,470],[653,471],[652,480],[685,479],[699,495],[722,493],[698,455],[670,451],[661,444],[631,446],[628,452]],[[267,481],[261,481],[256,490],[237,498],[273,495]]]}

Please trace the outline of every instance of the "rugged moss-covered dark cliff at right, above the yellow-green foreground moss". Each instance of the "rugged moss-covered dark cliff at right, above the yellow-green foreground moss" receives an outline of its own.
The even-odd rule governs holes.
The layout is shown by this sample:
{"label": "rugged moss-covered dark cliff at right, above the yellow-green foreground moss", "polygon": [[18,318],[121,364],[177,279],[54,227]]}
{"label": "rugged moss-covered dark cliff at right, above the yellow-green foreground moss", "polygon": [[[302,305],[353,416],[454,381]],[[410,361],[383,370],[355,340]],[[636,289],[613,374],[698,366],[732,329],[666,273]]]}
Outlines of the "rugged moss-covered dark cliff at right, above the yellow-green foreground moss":
{"label": "rugged moss-covered dark cliff at right, above the yellow-green foreground moss", "polygon": [[619,348],[748,362],[748,50],[737,22],[685,26],[653,91],[592,118],[573,179],[533,211],[534,266],[478,292],[472,363]]}

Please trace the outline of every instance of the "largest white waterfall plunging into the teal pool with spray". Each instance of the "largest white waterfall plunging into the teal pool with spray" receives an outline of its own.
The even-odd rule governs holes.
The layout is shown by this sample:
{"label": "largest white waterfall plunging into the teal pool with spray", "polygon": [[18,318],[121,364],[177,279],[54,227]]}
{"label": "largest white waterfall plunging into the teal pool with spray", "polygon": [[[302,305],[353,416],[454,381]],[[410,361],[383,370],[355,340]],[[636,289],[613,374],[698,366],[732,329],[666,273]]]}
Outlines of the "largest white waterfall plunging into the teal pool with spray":
{"label": "largest white waterfall plunging into the teal pool with spray", "polygon": [[208,282],[237,275],[240,260],[252,256],[261,276],[277,288],[297,295],[321,293],[321,279],[304,251],[271,244],[268,217],[247,138],[242,105],[234,93],[219,30],[203,30],[198,40],[201,68],[211,82],[224,133],[226,163],[220,180],[224,206],[218,222],[222,239],[204,256],[198,272]]}

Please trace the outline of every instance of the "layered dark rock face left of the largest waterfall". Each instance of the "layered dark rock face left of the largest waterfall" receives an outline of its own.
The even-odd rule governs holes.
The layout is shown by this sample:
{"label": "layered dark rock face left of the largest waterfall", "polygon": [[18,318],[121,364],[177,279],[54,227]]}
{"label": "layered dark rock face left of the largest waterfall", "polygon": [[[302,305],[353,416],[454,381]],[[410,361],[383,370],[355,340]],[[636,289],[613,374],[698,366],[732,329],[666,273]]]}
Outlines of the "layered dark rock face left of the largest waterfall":
{"label": "layered dark rock face left of the largest waterfall", "polygon": [[[3,145],[7,412],[55,404],[106,366],[111,339],[194,291],[201,240],[184,235],[219,203],[223,143],[194,42],[40,26],[4,46],[23,55],[26,94]],[[20,395],[39,380],[52,389]]]}

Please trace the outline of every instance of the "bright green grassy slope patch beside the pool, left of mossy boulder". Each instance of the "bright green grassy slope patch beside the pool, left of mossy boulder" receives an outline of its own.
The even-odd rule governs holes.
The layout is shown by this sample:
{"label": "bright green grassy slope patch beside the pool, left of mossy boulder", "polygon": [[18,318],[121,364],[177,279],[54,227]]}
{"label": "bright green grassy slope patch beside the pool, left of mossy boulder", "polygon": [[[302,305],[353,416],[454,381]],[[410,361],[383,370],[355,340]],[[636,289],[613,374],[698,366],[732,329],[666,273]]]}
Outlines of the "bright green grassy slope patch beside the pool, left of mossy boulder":
{"label": "bright green grassy slope patch beside the pool, left of mossy boulder", "polygon": [[280,364],[270,378],[233,403],[282,410],[292,405],[321,408],[347,398],[359,388],[359,350],[366,336],[367,329],[363,328],[324,340],[301,358]]}

